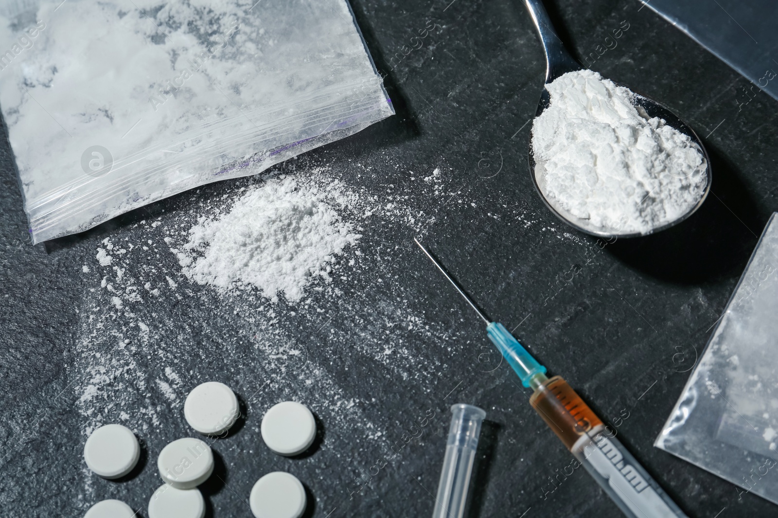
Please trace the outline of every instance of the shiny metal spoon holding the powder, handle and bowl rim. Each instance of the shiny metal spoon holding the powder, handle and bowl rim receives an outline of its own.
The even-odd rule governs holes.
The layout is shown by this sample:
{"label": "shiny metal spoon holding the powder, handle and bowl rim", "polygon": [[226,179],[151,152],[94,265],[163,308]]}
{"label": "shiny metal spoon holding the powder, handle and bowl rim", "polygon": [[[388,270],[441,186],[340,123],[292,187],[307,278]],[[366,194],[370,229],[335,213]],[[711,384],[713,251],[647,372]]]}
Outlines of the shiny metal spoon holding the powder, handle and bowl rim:
{"label": "shiny metal spoon holding the powder, handle and bowl rim", "polygon": [[[582,67],[575,59],[573,59],[573,57],[567,52],[565,46],[562,44],[562,40],[559,40],[559,37],[556,35],[556,31],[551,24],[551,19],[548,18],[548,12],[545,11],[541,0],[524,0],[524,2],[527,5],[527,9],[529,10],[530,15],[532,16],[532,21],[538,28],[538,35],[540,36],[541,43],[543,44],[543,50],[545,50],[545,59],[547,64],[545,71],[545,84],[548,85],[548,83],[553,82],[560,75],[566,74],[567,72],[583,70],[584,67]],[[619,83],[615,84],[618,86],[624,86]],[[540,103],[538,103],[538,111],[535,113],[535,117],[540,116],[540,114],[543,113],[543,110],[548,108],[549,103],[550,99],[548,96],[548,89],[544,87],[543,91],[541,92]],[[705,146],[703,146],[703,143],[699,140],[699,137],[697,137],[697,134],[694,132],[694,130],[692,130],[692,128],[690,128],[685,122],[679,119],[675,113],[672,113],[660,103],[654,101],[654,99],[641,96],[638,93],[635,93],[633,105],[636,107],[638,112],[644,112],[644,116],[648,116],[648,118],[659,117],[660,119],[664,119],[668,126],[675,128],[682,134],[688,135],[692,139],[692,142],[699,147],[700,151],[702,151],[706,164],[705,172],[707,177],[707,185],[705,187],[703,196],[700,197],[699,201],[693,207],[691,207],[686,214],[678,217],[674,221],[669,221],[668,223],[662,224],[656,228],[652,228],[649,232],[647,232],[647,234],[652,234],[654,232],[664,230],[665,228],[670,228],[673,225],[684,221],[687,217],[694,214],[694,212],[699,209],[700,205],[703,204],[706,197],[708,196],[708,193],[710,192],[710,158],[708,158],[708,153],[705,150]],[[532,139],[530,139],[529,144],[529,164],[530,176],[532,177],[532,182],[534,183],[535,189],[538,189],[538,194],[540,194],[541,200],[543,200],[546,207],[548,207],[548,209],[551,210],[556,217],[559,217],[559,219],[564,221],[566,224],[569,224],[571,227],[576,228],[577,230],[586,232],[587,234],[602,237],[618,236],[620,238],[633,238],[641,235],[647,235],[641,234],[640,232],[619,233],[587,227],[587,221],[573,216],[573,214],[567,214],[566,210],[562,209],[561,207],[554,207],[552,203],[546,199],[545,194],[543,194],[543,191],[541,190],[541,186],[538,184],[538,178],[535,176],[535,161],[534,153],[532,151]]]}

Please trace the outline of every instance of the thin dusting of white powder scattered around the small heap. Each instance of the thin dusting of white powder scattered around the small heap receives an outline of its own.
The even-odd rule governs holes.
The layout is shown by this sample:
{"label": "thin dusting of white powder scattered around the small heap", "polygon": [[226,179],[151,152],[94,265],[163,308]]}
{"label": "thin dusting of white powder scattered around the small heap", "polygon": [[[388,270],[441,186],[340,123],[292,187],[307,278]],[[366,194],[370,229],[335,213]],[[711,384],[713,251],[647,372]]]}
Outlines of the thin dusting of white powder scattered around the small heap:
{"label": "thin dusting of white powder scattered around the small heap", "polygon": [[[287,161],[285,167],[292,163]],[[184,395],[192,386],[218,375],[247,398],[250,412],[261,413],[272,402],[287,399],[316,408],[329,426],[331,445],[320,452],[324,456],[320,461],[350,477],[366,474],[378,456],[401,440],[414,419],[435,407],[441,395],[454,397],[461,390],[458,381],[441,384],[437,374],[453,355],[478,363],[478,352],[473,352],[464,332],[450,327],[446,319],[430,321],[409,309],[413,301],[428,294],[412,282],[415,275],[398,264],[418,257],[418,251],[410,245],[406,249],[387,245],[384,236],[404,231],[424,235],[440,204],[453,200],[449,206],[461,202],[470,207],[471,200],[455,196],[461,184],[451,180],[448,168],[432,173],[431,167],[409,171],[415,177],[412,185],[396,186],[387,176],[400,170],[399,166],[387,163],[382,156],[374,159],[374,165],[349,163],[345,171],[352,178],[374,179],[364,183],[341,181],[343,173],[331,166],[306,168],[296,175],[290,193],[313,197],[337,212],[340,219],[333,221],[334,228],[348,223],[352,229],[347,235],[364,236],[358,242],[355,236],[341,256],[331,252],[331,261],[319,266],[318,275],[310,276],[305,297],[294,307],[283,298],[268,301],[258,289],[214,290],[209,284],[187,279],[180,266],[184,257],[191,258],[184,269],[205,257],[206,248],[184,249],[193,222],[202,218],[195,225],[199,228],[206,219],[222,221],[234,212],[233,200],[265,189],[268,183],[289,182],[288,177],[264,183],[238,180],[229,188],[223,183],[209,188],[207,196],[192,193],[190,200],[180,203],[180,210],[166,212],[161,224],[140,221],[94,244],[89,272],[80,275],[84,297],[79,300],[70,367],[84,436],[109,422],[124,422],[150,441],[173,431],[188,433],[180,417]],[[219,189],[225,191],[223,196],[212,195]],[[528,213],[517,212],[518,207],[503,209],[506,221],[518,218],[524,225],[525,216],[519,214]],[[95,256],[98,248],[111,262],[100,263]],[[121,308],[114,298],[121,301]],[[349,325],[335,324],[347,316]],[[297,330],[304,326],[310,326],[310,333],[300,335]],[[349,354],[342,353],[344,347]],[[407,395],[406,406],[412,415],[407,420],[405,415],[398,418],[375,398],[365,398],[363,386],[343,376],[357,366],[419,388]],[[387,388],[376,390],[376,397],[393,393]],[[441,424],[444,415],[437,412],[435,426],[422,430],[425,437],[435,429],[445,429],[440,428],[445,426]],[[258,434],[258,426],[251,419],[246,428]],[[351,449],[355,437],[356,455]],[[418,451],[415,441],[405,446],[399,459]],[[345,455],[347,444],[352,445],[351,453]],[[391,461],[387,470],[395,469],[397,463]],[[238,467],[244,464],[237,460]],[[373,478],[373,485],[380,480]],[[352,483],[351,478],[341,481],[349,490],[361,484]],[[83,502],[104,498],[92,484],[93,475],[84,471],[79,492]]]}

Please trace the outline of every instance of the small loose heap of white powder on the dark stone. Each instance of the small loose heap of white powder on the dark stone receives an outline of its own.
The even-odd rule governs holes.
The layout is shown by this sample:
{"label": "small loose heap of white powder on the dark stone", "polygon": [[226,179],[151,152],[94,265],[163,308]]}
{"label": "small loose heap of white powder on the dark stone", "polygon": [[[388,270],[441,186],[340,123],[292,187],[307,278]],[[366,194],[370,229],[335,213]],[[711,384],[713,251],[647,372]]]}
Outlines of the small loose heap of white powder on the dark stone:
{"label": "small loose heap of white powder on the dark stone", "polygon": [[325,201],[338,195],[292,177],[252,187],[229,212],[191,228],[178,254],[184,274],[221,290],[251,285],[266,297],[300,300],[314,276],[329,280],[333,256],[361,237]]}

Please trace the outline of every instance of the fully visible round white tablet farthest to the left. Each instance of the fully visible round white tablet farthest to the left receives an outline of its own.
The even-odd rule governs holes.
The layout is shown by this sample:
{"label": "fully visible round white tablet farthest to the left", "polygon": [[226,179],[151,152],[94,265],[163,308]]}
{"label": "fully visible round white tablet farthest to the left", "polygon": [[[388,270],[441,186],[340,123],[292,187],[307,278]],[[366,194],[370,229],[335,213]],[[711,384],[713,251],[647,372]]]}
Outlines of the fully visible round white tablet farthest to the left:
{"label": "fully visible round white tablet farthest to the left", "polygon": [[96,429],[84,444],[84,461],[103,478],[127,475],[141,455],[135,433],[126,426],[106,425]]}

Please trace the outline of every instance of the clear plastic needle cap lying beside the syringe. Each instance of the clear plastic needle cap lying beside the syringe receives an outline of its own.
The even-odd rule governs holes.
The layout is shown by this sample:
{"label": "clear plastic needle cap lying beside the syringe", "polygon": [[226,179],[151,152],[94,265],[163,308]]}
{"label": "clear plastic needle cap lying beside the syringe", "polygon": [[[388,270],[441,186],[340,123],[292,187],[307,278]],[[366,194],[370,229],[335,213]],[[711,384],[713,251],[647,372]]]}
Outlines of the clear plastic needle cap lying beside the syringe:
{"label": "clear plastic needle cap lying beside the syringe", "polygon": [[433,518],[461,518],[468,499],[470,474],[486,412],[473,405],[451,406],[451,425]]}

